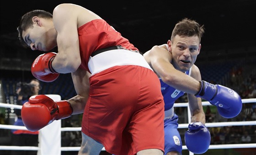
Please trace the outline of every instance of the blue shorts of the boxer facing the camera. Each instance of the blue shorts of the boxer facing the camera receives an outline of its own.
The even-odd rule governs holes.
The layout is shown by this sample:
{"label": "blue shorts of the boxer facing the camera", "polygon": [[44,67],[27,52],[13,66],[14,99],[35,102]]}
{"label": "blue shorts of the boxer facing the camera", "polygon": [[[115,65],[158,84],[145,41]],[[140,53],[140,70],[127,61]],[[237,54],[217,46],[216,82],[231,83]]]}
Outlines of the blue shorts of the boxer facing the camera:
{"label": "blue shorts of the boxer facing the camera", "polygon": [[182,151],[181,135],[178,131],[178,115],[174,113],[165,123],[165,155],[170,151]]}

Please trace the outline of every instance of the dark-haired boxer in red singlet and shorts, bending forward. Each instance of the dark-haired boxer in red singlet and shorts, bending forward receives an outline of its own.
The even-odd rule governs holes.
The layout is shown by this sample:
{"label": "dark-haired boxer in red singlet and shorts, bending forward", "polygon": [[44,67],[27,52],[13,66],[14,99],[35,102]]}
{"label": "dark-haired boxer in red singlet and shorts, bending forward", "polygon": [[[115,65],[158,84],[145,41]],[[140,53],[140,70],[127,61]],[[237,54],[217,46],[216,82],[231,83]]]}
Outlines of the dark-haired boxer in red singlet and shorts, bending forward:
{"label": "dark-haired boxer in red singlet and shorts, bending forward", "polygon": [[[164,102],[157,75],[143,55],[95,13],[61,4],[53,14],[33,10],[17,29],[23,44],[48,52],[32,64],[45,82],[71,73],[77,95],[54,102],[30,97],[21,110],[27,129],[84,112],[80,155],[103,146],[115,155],[163,155]],[[58,53],[49,52],[58,46]]]}

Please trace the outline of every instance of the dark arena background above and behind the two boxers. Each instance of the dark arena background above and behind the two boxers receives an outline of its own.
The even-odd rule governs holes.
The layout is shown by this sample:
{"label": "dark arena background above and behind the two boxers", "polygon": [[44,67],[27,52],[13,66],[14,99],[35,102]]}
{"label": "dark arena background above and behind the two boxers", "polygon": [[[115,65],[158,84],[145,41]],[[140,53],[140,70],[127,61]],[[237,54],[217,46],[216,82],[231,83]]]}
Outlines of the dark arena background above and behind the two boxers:
{"label": "dark arena background above and behind the two boxers", "polygon": [[[242,98],[248,98],[250,93],[246,92],[256,89],[255,0],[1,0],[0,103],[15,104],[13,98],[16,83],[27,82],[33,78],[30,72],[31,64],[43,53],[21,47],[16,31],[21,16],[36,9],[52,12],[54,7],[61,3],[82,5],[100,15],[142,53],[154,45],[165,44],[170,39],[175,24],[182,18],[196,20],[205,26],[201,53],[195,63],[201,70],[202,79],[229,86],[239,92]],[[41,85],[40,94],[59,94],[62,99],[69,99],[75,95],[70,74],[61,75],[52,83],[41,82]],[[179,101],[186,102],[182,98]],[[248,107],[254,110],[255,106],[256,103],[252,103]],[[179,113],[178,110],[180,113],[183,111],[182,108],[176,108],[176,113]],[[216,114],[213,107],[211,110]],[[14,121],[10,109],[0,108],[0,114],[3,116],[4,124],[12,124]],[[246,115],[241,117],[243,118],[239,118],[240,120],[247,118]],[[180,123],[186,123],[186,120],[182,120],[186,116],[180,115],[180,118]],[[70,121],[73,121],[75,123],[71,126],[79,126],[79,119],[79,116],[72,117],[62,125],[71,125]],[[255,130],[255,125],[253,129]],[[10,143],[9,132],[0,130],[0,145]],[[70,134],[63,136],[64,140],[70,139]],[[79,138],[79,135],[77,136]],[[255,134],[252,136],[255,143]],[[74,139],[72,144],[64,141],[63,145],[79,146],[78,138],[78,141]],[[240,152],[235,153],[242,155]],[[232,149],[225,153],[235,154]],[[253,155],[252,152],[250,155]]]}

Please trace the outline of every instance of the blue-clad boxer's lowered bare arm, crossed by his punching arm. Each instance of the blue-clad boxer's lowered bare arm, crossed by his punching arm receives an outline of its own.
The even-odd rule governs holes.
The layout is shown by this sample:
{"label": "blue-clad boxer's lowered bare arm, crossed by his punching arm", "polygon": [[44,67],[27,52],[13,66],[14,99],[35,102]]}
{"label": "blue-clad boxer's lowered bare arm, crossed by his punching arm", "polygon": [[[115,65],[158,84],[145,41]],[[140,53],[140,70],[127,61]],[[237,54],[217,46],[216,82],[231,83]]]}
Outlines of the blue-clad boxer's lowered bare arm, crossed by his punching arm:
{"label": "blue-clad boxer's lowered bare arm, crossed by his punching arm", "polygon": [[[198,81],[201,81],[200,70],[196,65],[192,66],[191,77]],[[191,113],[191,122],[199,121],[205,124],[205,114],[203,112],[202,99],[197,98],[193,94],[187,94],[187,97],[188,97],[189,109]]]}

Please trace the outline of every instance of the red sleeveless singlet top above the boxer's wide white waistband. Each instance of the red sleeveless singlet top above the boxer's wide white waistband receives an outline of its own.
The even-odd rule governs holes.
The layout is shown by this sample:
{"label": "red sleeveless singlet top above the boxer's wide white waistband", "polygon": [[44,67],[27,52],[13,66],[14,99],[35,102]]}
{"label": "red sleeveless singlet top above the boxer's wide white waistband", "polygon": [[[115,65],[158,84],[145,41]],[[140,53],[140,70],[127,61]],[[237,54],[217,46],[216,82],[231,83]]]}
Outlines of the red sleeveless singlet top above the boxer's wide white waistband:
{"label": "red sleeveless singlet top above the boxer's wide white waistband", "polygon": [[138,50],[128,39],[124,38],[102,19],[92,20],[80,26],[78,35],[81,57],[80,68],[89,72],[88,61],[90,55],[96,50],[116,45],[122,45],[127,50]]}

